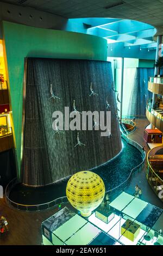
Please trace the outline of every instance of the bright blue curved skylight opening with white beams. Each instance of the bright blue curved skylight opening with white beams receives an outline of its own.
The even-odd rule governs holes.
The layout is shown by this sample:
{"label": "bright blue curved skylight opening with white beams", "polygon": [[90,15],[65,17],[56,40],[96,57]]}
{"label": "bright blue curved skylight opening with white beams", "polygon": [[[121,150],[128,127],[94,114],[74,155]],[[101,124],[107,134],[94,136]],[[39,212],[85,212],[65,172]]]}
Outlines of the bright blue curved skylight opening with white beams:
{"label": "bright blue curved skylight opening with white beams", "polygon": [[105,38],[108,44],[123,43],[124,47],[141,46],[155,50],[154,35],[156,28],[134,20],[112,18],[78,18],[69,19],[67,31],[91,34]]}

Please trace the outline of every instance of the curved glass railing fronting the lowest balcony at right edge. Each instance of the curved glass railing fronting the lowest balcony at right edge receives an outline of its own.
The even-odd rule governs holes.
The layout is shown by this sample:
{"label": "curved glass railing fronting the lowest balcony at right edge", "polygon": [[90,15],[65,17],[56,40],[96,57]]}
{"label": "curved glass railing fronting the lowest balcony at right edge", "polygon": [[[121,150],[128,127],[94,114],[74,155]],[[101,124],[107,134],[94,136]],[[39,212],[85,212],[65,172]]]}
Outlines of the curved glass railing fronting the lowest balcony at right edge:
{"label": "curved glass railing fronting the lowest balcony at right edge", "polygon": [[[151,149],[152,150],[152,149]],[[146,169],[146,177],[151,185],[152,189],[156,193],[156,195],[162,200],[163,202],[163,179],[159,176],[158,173],[156,173],[156,170],[154,170],[150,164],[149,159],[149,153],[147,155],[147,169]]]}

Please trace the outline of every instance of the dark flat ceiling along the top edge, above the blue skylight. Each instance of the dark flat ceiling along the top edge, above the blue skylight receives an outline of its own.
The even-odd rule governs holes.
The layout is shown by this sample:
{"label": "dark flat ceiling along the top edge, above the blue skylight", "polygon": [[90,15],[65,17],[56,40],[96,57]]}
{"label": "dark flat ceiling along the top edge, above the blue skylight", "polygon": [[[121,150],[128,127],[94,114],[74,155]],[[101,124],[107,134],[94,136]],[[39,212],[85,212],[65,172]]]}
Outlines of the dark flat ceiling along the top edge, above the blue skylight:
{"label": "dark flat ceiling along the top edge, above the blue skylight", "polygon": [[114,17],[149,23],[163,33],[163,0],[1,0],[31,7],[68,19]]}

